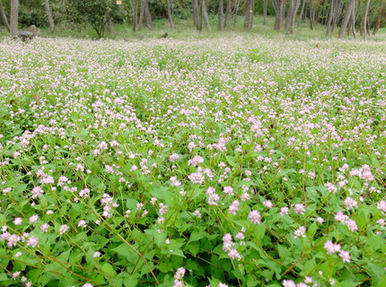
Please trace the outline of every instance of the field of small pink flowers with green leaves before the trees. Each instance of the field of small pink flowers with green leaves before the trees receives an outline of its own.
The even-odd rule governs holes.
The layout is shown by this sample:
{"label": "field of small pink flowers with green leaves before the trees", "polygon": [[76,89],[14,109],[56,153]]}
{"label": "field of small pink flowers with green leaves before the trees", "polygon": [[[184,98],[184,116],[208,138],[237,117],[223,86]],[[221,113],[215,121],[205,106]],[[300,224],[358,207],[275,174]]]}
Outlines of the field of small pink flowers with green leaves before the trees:
{"label": "field of small pink flowers with green leaves before the trees", "polygon": [[386,54],[0,41],[1,286],[386,285]]}

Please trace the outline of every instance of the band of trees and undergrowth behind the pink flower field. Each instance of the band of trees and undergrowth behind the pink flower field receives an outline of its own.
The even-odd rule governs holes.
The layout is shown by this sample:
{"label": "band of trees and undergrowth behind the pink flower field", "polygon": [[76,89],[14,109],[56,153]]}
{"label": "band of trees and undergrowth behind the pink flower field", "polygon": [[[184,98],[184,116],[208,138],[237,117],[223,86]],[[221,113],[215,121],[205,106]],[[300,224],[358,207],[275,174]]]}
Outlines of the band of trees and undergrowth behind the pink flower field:
{"label": "band of trees and undergrowth behind the pink flower field", "polygon": [[240,16],[246,30],[257,22],[266,26],[268,17],[275,17],[271,29],[286,33],[294,33],[301,23],[308,22],[311,30],[316,24],[324,25],[327,35],[367,37],[375,35],[386,19],[386,0],[24,0],[19,13],[17,2],[0,0],[2,22],[13,36],[17,22],[23,27],[49,26],[51,32],[56,24],[71,30],[89,25],[103,37],[113,23],[126,23],[137,31],[151,29],[154,20],[168,19],[173,30],[177,19],[191,19],[197,30],[214,26],[224,30],[234,26]]}

